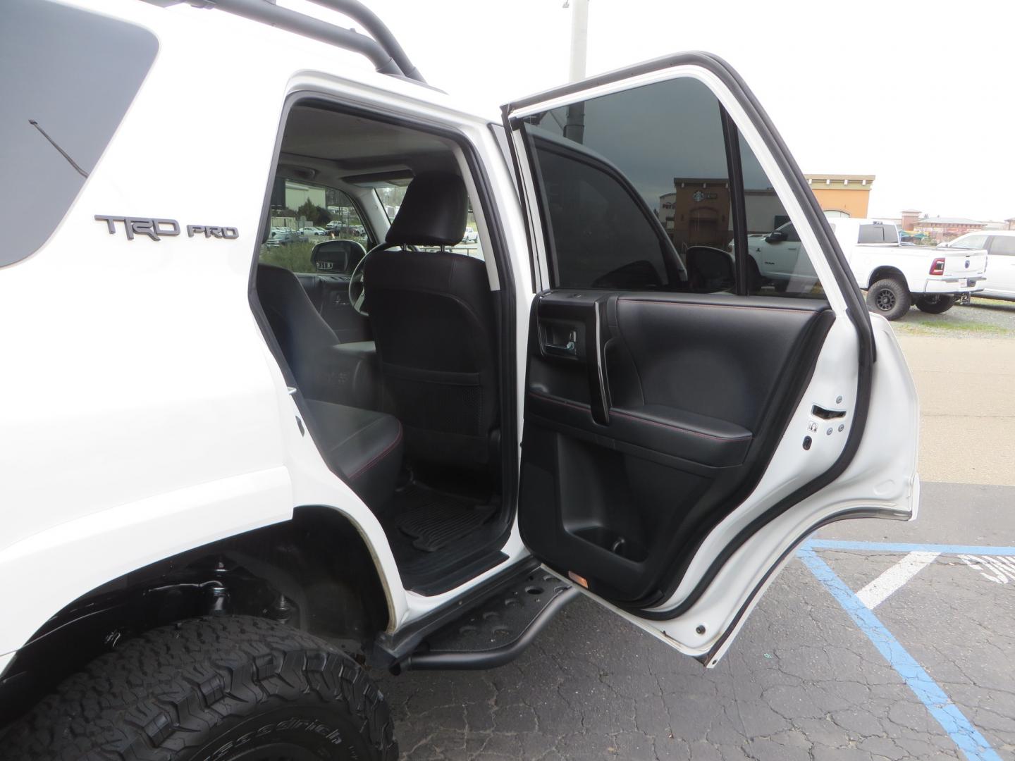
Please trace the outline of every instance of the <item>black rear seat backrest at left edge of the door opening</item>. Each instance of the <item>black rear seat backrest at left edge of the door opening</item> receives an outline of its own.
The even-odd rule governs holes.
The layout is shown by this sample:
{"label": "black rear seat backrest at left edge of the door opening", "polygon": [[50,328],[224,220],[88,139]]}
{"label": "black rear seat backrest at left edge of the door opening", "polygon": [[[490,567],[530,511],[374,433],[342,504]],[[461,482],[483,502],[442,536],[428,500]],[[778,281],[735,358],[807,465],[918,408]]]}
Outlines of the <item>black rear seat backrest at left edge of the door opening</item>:
{"label": "black rear seat backrest at left edge of the door opening", "polygon": [[304,393],[319,383],[321,352],[339,343],[311,302],[299,278],[284,267],[257,266],[257,296],[285,360]]}

